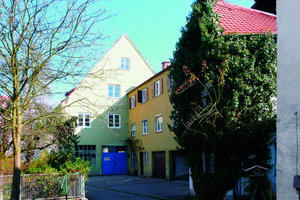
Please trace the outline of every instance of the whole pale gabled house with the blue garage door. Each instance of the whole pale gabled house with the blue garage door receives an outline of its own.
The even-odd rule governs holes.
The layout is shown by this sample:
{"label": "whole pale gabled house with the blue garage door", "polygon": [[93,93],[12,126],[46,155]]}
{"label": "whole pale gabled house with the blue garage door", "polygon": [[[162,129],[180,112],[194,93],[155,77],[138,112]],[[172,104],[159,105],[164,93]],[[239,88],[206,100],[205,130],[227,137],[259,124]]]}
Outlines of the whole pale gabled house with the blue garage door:
{"label": "whole pale gabled house with the blue garage door", "polygon": [[129,90],[155,72],[124,34],[61,103],[78,117],[76,154],[91,161],[91,175],[127,174]]}

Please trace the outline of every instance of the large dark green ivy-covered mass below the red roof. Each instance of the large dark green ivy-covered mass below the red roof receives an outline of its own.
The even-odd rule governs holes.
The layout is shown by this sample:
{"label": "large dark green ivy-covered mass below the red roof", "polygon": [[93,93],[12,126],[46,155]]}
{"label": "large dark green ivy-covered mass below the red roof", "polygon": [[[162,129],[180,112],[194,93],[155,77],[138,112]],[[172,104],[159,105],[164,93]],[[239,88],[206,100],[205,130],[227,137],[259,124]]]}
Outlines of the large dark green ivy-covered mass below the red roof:
{"label": "large dark green ivy-covered mass below the red roof", "polygon": [[268,167],[275,132],[276,38],[224,35],[197,0],[171,62],[172,130],[198,199],[223,199],[243,169]]}

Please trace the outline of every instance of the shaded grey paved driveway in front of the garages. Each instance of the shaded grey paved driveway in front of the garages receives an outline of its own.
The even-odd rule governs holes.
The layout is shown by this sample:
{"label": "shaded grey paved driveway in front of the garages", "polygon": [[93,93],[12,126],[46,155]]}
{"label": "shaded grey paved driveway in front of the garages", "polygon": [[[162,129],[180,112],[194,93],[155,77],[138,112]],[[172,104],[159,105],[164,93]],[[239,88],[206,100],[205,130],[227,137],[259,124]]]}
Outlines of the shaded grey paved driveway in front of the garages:
{"label": "shaded grey paved driveway in front of the garages", "polygon": [[186,199],[188,181],[167,181],[136,176],[95,176],[86,182],[89,200]]}

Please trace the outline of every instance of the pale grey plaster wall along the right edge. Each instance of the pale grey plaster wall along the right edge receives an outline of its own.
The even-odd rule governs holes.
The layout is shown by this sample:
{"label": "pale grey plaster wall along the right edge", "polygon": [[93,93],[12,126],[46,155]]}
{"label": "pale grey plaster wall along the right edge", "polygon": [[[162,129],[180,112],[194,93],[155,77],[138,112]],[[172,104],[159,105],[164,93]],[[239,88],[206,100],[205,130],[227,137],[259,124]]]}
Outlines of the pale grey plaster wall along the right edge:
{"label": "pale grey plaster wall along the right edge", "polygon": [[299,0],[277,0],[277,30],[277,199],[291,200],[298,199],[298,192],[293,188],[293,177],[296,175],[297,144],[295,112],[298,112],[298,127],[300,125]]}

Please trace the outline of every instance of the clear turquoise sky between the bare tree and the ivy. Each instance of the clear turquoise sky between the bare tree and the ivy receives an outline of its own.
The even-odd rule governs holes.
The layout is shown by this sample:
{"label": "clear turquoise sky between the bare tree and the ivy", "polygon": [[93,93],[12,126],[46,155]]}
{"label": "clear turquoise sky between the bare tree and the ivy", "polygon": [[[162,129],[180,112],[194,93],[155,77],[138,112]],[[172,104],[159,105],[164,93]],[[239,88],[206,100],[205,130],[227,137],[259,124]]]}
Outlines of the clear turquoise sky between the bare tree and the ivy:
{"label": "clear turquoise sky between the bare tree and the ivy", "polygon": [[[224,0],[250,8],[254,0]],[[181,36],[181,28],[191,12],[194,0],[105,0],[103,7],[116,16],[103,21],[106,52],[121,35],[126,33],[152,68],[159,72],[161,63],[173,57],[176,42]],[[99,52],[95,52],[95,55]],[[99,61],[101,57],[95,58]],[[95,63],[91,63],[90,68]],[[59,92],[54,98],[57,103],[64,99],[64,93],[73,89],[74,84],[53,88]]]}

